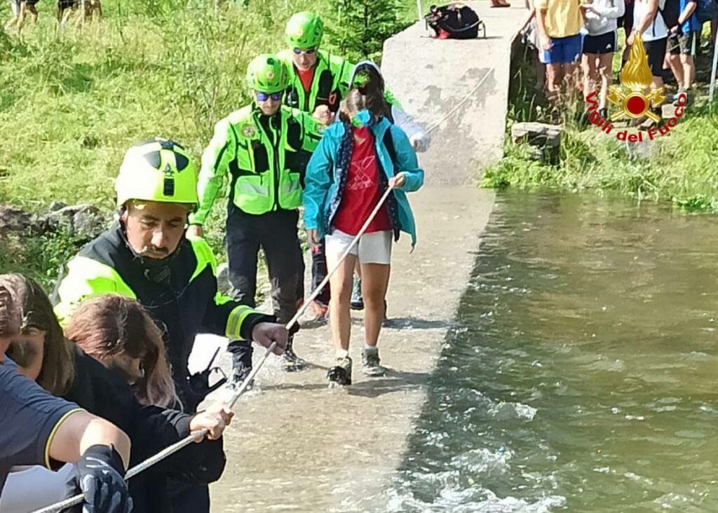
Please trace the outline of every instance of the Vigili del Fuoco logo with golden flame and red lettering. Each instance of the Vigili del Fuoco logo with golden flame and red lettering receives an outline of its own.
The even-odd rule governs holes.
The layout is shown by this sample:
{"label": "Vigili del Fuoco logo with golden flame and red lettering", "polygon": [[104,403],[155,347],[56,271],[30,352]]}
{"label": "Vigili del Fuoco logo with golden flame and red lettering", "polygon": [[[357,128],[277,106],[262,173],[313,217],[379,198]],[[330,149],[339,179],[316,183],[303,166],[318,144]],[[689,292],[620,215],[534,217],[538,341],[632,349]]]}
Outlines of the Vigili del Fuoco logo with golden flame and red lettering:
{"label": "Vigili del Fuoco logo with golden flame and red lettering", "polygon": [[[620,118],[634,120],[645,117],[659,123],[661,117],[651,109],[658,108],[666,100],[666,95],[663,94],[663,88],[651,88],[652,82],[653,75],[651,68],[648,67],[648,56],[645,55],[643,41],[638,32],[633,40],[628,62],[625,63],[621,71],[620,85],[611,85],[608,88],[607,98],[610,103],[615,105],[615,112],[608,116],[609,119],[601,116],[598,111],[597,93],[593,91],[586,97],[586,103],[589,104],[589,121],[600,127],[605,133],[614,132],[615,126],[612,121],[617,121]],[[648,89],[650,89],[650,93],[645,94]],[[662,125],[649,128],[645,138],[643,131],[629,131],[628,129],[615,131],[615,137],[618,141],[640,143],[644,140],[653,141],[658,136],[665,136],[684,116],[687,103],[688,96],[680,95],[673,116],[666,119]]]}

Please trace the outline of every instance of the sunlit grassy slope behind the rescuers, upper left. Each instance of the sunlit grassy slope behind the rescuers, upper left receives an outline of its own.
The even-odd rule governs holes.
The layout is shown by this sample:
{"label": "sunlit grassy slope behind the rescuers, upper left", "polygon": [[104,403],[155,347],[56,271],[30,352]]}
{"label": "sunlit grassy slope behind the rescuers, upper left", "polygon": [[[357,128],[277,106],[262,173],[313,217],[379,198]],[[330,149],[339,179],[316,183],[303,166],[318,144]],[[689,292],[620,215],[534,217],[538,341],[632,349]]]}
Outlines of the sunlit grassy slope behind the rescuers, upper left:
{"label": "sunlit grassy slope behind the rescuers, upper left", "polygon": [[[151,136],[174,138],[199,156],[214,123],[248,102],[248,62],[281,50],[286,19],[312,9],[332,23],[328,0],[103,0],[105,19],[58,29],[47,3],[37,27],[0,31],[0,203],[44,211],[52,200],[113,208],[124,151]],[[416,4],[405,2],[404,19]],[[9,6],[0,2],[0,19]],[[332,50],[331,37],[325,48]],[[358,56],[348,56],[358,57]],[[223,255],[223,201],[209,238]],[[65,237],[2,240],[0,272],[47,286],[75,253]]]}

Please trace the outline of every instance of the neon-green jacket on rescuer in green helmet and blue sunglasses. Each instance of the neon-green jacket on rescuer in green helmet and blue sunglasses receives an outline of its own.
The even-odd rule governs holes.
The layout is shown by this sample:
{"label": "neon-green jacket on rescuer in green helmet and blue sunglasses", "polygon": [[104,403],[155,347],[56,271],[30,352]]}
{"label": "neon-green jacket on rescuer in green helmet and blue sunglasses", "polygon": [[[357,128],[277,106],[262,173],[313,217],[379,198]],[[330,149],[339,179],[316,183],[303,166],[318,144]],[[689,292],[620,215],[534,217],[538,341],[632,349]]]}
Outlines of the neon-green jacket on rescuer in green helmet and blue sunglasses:
{"label": "neon-green jacket on rescuer in green helmet and blue sunglasses", "polygon": [[202,154],[200,205],[190,223],[204,224],[227,171],[230,202],[243,212],[261,215],[299,208],[304,171],[323,128],[306,113],[284,105],[271,117],[253,104],[231,113],[217,123]]}

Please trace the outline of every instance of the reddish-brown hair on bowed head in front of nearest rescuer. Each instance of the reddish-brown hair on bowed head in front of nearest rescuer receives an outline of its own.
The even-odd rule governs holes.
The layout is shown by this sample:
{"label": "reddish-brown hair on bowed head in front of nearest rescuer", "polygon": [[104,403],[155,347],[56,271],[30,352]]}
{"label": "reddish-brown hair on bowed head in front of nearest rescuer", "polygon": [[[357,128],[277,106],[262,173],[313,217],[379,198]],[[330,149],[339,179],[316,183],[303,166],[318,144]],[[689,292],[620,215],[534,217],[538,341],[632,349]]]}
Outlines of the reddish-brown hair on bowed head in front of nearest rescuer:
{"label": "reddish-brown hair on bowed head in front of nearest rescuer", "polygon": [[177,401],[162,331],[137,301],[116,294],[83,301],[65,334],[98,360],[121,352],[141,359],[144,377],[134,389],[140,403],[167,407]]}

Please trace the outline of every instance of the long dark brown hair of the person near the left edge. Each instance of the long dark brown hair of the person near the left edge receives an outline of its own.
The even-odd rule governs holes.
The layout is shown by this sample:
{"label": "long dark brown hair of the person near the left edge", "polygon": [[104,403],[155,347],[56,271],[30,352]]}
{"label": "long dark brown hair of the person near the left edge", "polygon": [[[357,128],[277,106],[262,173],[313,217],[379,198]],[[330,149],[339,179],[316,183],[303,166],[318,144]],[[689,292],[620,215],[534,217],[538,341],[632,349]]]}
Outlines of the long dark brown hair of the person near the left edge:
{"label": "long dark brown hair of the person near the left edge", "polygon": [[[3,292],[14,298],[14,307],[3,307]],[[14,309],[14,314],[11,310]],[[45,331],[45,344],[42,348],[42,368],[37,377],[37,384],[52,395],[62,395],[70,389],[75,379],[75,360],[72,344],[65,340],[62,328],[57,322],[52,304],[42,287],[32,278],[22,274],[0,275],[0,331],[9,319],[15,315],[19,326],[13,333],[29,334],[32,331]],[[34,355],[24,344],[11,344],[7,355],[19,366],[27,367]]]}

